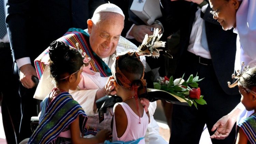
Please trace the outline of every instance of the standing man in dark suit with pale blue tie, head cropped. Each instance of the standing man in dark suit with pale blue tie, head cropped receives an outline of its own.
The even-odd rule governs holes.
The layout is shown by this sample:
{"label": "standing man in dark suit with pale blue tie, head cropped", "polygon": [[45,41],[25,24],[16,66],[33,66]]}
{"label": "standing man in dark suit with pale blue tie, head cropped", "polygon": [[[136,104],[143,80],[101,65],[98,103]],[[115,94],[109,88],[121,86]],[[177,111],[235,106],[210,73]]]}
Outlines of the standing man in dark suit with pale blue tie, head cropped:
{"label": "standing man in dark suit with pale blue tie, head cropped", "polygon": [[[193,1],[193,2],[188,2]],[[210,5],[204,0],[173,1],[170,9],[182,17],[180,49],[175,78],[185,73],[198,74],[201,95],[206,105],[173,105],[171,144],[198,144],[204,125],[212,128],[215,122],[228,114],[240,101],[238,89],[229,89],[236,53],[236,37],[232,31],[223,31],[212,18]],[[177,5],[181,5],[177,6]],[[184,14],[179,13],[182,10]],[[208,130],[213,134],[211,129]],[[213,144],[230,144],[235,139],[235,129],[225,140],[212,140]]]}

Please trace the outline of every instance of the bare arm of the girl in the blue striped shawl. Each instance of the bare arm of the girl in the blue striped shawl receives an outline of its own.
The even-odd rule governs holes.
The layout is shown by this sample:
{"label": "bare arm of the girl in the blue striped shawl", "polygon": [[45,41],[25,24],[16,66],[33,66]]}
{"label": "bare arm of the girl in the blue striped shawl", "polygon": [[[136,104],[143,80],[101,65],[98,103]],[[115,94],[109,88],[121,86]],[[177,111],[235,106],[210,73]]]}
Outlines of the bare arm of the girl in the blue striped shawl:
{"label": "bare arm of the girl in the blue striped shawl", "polygon": [[77,117],[70,124],[70,132],[71,132],[71,141],[73,144],[97,144],[103,143],[105,140],[110,139],[111,131],[109,130],[101,130],[99,131],[95,137],[93,138],[83,138],[80,136],[80,128],[79,128],[79,117]]}

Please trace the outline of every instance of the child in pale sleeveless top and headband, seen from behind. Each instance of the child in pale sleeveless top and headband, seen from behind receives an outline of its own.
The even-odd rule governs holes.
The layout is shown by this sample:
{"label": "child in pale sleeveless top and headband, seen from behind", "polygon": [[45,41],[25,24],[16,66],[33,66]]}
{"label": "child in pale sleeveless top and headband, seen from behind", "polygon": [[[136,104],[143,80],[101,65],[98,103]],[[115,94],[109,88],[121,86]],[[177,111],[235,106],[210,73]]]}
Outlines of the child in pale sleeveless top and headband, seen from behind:
{"label": "child in pale sleeveless top and headband, seen from behind", "polygon": [[112,140],[114,143],[145,144],[149,114],[138,98],[139,94],[145,92],[146,86],[143,64],[139,58],[128,53],[116,57],[111,71],[116,95],[123,99],[123,102],[114,105]]}

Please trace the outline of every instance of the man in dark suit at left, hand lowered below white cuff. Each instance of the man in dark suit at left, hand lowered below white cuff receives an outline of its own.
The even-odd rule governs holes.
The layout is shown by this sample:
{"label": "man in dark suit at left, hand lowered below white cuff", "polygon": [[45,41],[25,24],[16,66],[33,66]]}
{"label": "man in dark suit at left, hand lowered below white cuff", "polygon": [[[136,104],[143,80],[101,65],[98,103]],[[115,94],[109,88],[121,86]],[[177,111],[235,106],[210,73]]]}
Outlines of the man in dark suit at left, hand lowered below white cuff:
{"label": "man in dark suit at left, hand lowered below white cuff", "polygon": [[[19,140],[29,138],[31,116],[37,116],[33,99],[37,76],[34,59],[71,28],[87,28],[86,20],[103,0],[8,0],[6,25],[13,59],[19,71],[22,119]],[[17,119],[18,120],[18,119]]]}

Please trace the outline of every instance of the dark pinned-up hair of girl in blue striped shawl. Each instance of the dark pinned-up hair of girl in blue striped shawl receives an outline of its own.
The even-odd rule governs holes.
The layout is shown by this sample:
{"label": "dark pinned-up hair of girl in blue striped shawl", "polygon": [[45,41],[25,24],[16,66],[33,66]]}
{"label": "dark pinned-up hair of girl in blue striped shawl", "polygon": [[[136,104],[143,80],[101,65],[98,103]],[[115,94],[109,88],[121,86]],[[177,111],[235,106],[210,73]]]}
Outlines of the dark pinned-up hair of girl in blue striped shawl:
{"label": "dark pinned-up hair of girl in blue striped shawl", "polygon": [[[83,57],[75,48],[70,48],[62,41],[54,41],[49,46],[49,57],[51,76],[54,77],[56,85],[64,78],[64,74],[72,74],[83,65]],[[76,73],[77,74],[77,73]]]}

